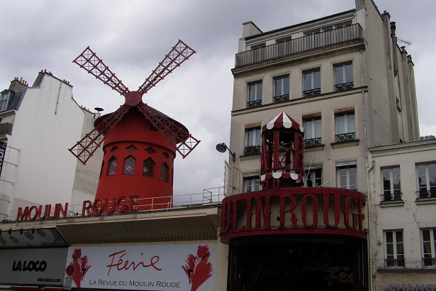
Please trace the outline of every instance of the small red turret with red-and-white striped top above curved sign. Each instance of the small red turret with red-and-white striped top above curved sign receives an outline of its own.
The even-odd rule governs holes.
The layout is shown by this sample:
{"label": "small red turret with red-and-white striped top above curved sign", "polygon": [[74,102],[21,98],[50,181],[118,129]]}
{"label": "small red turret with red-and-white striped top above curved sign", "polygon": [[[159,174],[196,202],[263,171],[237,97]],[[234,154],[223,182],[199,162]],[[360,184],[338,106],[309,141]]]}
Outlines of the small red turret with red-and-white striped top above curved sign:
{"label": "small red turret with red-and-white striped top above curved sign", "polygon": [[263,190],[303,184],[303,138],[303,127],[284,112],[262,126]]}

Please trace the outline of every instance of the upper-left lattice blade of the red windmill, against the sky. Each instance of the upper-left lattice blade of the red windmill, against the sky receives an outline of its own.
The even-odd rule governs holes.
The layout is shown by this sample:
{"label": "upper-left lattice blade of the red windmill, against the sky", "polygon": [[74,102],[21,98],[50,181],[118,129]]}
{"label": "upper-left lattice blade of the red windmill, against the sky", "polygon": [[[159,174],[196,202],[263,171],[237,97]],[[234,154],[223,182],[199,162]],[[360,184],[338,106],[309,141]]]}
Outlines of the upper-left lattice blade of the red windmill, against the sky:
{"label": "upper-left lattice blade of the red windmill, against the sky", "polygon": [[103,60],[97,57],[91,48],[86,48],[73,62],[121,95],[127,94],[128,87],[125,87],[121,79],[118,79],[115,73],[104,65]]}

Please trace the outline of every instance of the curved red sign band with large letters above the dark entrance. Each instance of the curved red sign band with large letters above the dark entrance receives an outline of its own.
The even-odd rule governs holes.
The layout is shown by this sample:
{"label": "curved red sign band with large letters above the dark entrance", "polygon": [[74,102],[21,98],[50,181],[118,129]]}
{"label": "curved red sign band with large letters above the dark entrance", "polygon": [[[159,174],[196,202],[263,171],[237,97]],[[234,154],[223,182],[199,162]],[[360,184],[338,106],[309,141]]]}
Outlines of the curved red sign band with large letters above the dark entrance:
{"label": "curved red sign band with large letters above the dark entrance", "polygon": [[289,188],[223,199],[221,239],[267,234],[342,234],[366,238],[367,197],[338,188]]}

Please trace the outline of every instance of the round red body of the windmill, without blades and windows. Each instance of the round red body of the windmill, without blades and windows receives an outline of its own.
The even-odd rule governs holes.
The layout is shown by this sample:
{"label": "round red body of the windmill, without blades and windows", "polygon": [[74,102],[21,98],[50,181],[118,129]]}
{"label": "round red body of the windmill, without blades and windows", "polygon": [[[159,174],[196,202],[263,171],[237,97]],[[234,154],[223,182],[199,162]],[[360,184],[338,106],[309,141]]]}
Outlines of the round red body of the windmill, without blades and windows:
{"label": "round red body of the windmill, without blades and windows", "polygon": [[[105,116],[101,116],[101,119],[104,118]],[[136,149],[128,150],[131,146]],[[173,166],[176,148],[160,131],[153,130],[151,123],[137,109],[130,109],[128,114],[125,114],[123,119],[106,136],[103,150],[104,158],[96,199],[138,195],[139,205],[153,203],[153,209],[168,207],[168,204],[172,201]],[[134,174],[123,174],[124,161],[130,155],[136,160]],[[117,159],[114,175],[108,175],[111,158]],[[152,158],[155,162],[152,177],[147,177],[142,173],[143,163],[147,158]],[[164,163],[168,166],[167,181],[161,180],[162,164]],[[153,199],[152,201],[150,197],[162,198]],[[139,209],[151,208],[150,206],[140,207]]]}

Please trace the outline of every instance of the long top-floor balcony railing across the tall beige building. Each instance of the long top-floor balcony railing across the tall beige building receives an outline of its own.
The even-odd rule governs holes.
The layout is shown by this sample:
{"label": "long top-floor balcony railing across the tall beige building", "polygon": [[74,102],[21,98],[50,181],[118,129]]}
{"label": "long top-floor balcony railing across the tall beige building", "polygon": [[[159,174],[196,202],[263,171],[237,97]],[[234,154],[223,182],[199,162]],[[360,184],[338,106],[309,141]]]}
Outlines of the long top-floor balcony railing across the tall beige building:
{"label": "long top-floor balcony railing across the tall beige building", "polygon": [[329,45],[347,43],[352,40],[362,39],[362,27],[357,23],[351,26],[314,33],[301,38],[294,38],[274,45],[267,45],[254,50],[247,50],[237,53],[235,58],[235,68],[245,65],[252,65],[267,60],[274,60],[280,57],[287,57],[304,53],[310,50],[325,48]]}

